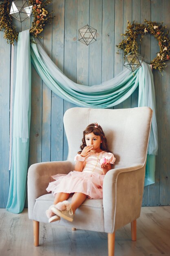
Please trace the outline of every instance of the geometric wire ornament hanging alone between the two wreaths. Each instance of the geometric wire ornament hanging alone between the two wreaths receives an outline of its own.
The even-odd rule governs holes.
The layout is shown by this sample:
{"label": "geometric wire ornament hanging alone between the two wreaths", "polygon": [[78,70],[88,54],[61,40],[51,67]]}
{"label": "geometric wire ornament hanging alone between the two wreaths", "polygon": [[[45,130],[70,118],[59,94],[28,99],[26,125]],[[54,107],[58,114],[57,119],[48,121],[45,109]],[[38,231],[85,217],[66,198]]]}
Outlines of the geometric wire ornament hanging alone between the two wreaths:
{"label": "geometric wire ornament hanging alone between the two wreaths", "polygon": [[79,29],[79,41],[85,45],[94,43],[97,38],[97,30],[93,27],[86,25]]}

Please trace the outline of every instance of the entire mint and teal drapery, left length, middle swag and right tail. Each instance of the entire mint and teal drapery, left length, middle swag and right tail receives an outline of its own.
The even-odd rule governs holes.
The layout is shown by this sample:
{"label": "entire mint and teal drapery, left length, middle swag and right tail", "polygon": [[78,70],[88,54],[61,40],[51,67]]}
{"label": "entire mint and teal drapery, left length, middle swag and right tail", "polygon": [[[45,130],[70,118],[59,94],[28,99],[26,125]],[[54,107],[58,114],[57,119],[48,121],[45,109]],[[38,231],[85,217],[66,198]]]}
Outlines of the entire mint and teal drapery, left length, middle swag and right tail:
{"label": "entire mint and teal drapery, left length, middle swag and right tail", "polygon": [[[33,40],[33,38],[32,38]],[[31,57],[30,57],[31,52]],[[153,110],[152,128],[148,145],[145,185],[154,183],[155,155],[158,149],[155,89],[150,65],[143,63],[134,72],[125,69],[118,76],[100,85],[80,85],[68,79],[51,61],[43,47],[29,43],[29,31],[19,33],[17,79],[13,117],[13,148],[11,180],[7,210],[19,213],[24,208],[26,174],[29,153],[31,114],[31,65],[44,83],[59,97],[82,107],[110,108],[126,100],[139,86],[138,106]],[[22,67],[22,71],[20,70]],[[22,75],[23,73],[23,75]]]}

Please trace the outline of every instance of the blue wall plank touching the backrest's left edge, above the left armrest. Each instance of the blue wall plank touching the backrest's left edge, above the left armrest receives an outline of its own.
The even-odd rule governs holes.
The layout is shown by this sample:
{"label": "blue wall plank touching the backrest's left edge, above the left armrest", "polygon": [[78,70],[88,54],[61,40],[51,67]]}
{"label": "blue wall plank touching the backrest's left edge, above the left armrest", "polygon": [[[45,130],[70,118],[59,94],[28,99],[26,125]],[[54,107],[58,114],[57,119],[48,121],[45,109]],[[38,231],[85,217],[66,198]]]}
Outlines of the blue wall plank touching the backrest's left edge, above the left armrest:
{"label": "blue wall plank touching the backrest's left edge, above the left armrest", "polygon": [[[64,9],[65,1],[53,4],[52,60],[64,72]],[[51,99],[51,161],[63,160],[64,100],[52,92]]]}

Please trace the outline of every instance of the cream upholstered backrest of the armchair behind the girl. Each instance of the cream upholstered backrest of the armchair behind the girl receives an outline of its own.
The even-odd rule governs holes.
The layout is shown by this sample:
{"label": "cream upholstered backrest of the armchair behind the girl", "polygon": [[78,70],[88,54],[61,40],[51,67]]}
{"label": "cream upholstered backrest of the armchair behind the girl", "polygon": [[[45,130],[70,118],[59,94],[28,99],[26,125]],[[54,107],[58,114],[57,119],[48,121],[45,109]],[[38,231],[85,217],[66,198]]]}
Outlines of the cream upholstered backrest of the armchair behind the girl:
{"label": "cream upholstered backrest of the armchair behind the girl", "polygon": [[64,114],[68,140],[68,160],[80,150],[83,131],[97,122],[104,130],[108,148],[116,157],[115,168],[144,164],[152,110],[148,107],[126,109],[71,108]]}

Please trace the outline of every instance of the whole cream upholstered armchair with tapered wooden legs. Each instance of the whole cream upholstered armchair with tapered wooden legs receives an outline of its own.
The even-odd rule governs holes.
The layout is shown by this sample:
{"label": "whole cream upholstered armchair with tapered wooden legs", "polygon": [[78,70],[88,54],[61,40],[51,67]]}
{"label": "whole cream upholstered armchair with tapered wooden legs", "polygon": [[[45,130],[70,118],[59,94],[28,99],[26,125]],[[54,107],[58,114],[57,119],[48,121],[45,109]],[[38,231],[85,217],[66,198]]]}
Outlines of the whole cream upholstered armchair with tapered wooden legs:
{"label": "whole cream upholstered armchair with tapered wooden legs", "polygon": [[[71,108],[64,115],[68,139],[68,160],[33,164],[28,171],[28,211],[33,220],[34,245],[39,245],[39,222],[48,222],[45,210],[53,204],[46,187],[51,175],[74,170],[74,156],[88,124],[99,123],[116,157],[113,169],[104,177],[103,200],[86,199],[76,210],[73,222],[60,220],[49,225],[64,225],[108,233],[108,255],[114,256],[115,231],[131,223],[132,240],[136,240],[136,220],[140,216],[148,138],[152,110]],[[83,220],[83,221],[82,221]],[[97,220],[97,221],[96,221]]]}

